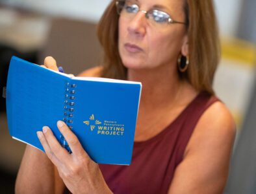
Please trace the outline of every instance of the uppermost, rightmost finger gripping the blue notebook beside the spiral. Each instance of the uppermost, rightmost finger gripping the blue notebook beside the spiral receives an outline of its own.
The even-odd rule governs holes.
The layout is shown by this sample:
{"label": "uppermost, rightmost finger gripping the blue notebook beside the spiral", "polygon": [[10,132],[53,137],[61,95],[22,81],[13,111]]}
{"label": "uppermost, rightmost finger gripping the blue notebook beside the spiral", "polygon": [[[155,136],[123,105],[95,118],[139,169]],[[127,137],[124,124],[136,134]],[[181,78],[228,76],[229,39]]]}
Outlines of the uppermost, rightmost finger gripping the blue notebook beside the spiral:
{"label": "uppermost, rightmost finger gripping the blue notebook beside the spiral", "polygon": [[72,153],[77,157],[89,157],[87,153],[84,151],[83,147],[81,146],[79,140],[77,139],[77,136],[75,136],[75,134],[72,133],[70,128],[68,128],[68,126],[62,121],[58,121],[57,125],[58,129],[60,130],[60,133],[62,133],[62,135],[68,142],[68,145],[70,146]]}

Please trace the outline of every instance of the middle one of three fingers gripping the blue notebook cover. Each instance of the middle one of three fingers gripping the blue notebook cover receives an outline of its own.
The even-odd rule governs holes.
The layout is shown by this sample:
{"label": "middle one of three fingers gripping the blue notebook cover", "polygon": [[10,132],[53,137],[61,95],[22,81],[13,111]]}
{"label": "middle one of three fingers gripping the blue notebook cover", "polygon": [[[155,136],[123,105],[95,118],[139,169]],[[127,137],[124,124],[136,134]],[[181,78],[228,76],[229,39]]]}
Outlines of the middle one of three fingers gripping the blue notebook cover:
{"label": "middle one of three fingers gripping the blue notebook cover", "polygon": [[53,132],[51,129],[47,126],[43,127],[43,133],[45,136],[45,140],[47,141],[47,144],[49,145],[51,152],[60,160],[62,163],[66,164],[66,162],[69,162],[70,154],[66,149],[62,146],[60,146],[60,143],[53,135]]}

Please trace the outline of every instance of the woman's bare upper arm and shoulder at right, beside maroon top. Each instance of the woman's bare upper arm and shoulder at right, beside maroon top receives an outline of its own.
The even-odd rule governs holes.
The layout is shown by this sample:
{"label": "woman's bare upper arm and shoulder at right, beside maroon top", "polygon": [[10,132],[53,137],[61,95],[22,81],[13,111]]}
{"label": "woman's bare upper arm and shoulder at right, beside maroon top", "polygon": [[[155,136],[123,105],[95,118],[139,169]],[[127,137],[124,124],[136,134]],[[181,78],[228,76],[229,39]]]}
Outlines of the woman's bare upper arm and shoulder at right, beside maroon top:
{"label": "woman's bare upper arm and shoulder at right, beside maroon top", "polygon": [[201,116],[168,193],[223,193],[235,140],[235,124],[216,102]]}

